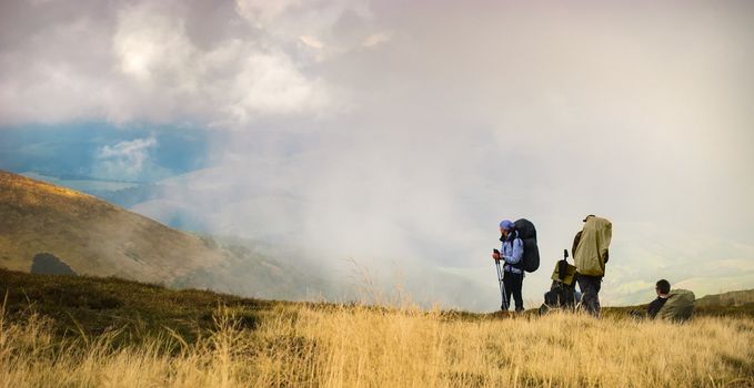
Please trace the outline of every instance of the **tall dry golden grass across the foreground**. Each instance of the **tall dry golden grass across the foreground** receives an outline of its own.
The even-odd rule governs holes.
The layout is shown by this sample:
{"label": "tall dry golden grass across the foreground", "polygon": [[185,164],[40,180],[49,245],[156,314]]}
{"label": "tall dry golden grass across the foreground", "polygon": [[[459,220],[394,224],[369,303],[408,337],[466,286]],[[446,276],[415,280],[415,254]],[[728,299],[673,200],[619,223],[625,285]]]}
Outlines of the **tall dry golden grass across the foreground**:
{"label": "tall dry golden grass across the foreground", "polygon": [[280,306],[254,330],[221,309],[195,344],[169,330],[56,339],[0,318],[2,387],[752,387],[754,321],[581,315],[469,318],[416,308]]}

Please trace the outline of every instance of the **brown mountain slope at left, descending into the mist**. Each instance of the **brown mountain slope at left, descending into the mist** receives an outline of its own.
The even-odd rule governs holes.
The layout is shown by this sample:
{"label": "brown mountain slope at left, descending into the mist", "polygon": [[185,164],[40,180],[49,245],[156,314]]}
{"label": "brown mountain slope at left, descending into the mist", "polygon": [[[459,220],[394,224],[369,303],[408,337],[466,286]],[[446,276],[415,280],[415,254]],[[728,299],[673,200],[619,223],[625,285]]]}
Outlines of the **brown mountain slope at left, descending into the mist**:
{"label": "brown mountain slope at left, descending into the mist", "polygon": [[[37,261],[34,261],[34,257]],[[164,226],[91,195],[0,170],[0,267],[49,267],[277,299],[332,297],[330,282],[234,244]]]}

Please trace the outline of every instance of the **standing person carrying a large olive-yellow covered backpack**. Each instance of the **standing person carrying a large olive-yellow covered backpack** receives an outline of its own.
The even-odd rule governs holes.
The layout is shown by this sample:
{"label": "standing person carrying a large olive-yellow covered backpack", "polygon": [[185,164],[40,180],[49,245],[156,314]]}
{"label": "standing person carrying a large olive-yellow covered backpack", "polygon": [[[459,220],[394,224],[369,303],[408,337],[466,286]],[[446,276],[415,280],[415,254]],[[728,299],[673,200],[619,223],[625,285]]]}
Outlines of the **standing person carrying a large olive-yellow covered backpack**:
{"label": "standing person carrying a large olive-yellow covered backpack", "polygon": [[605,276],[610,242],[613,236],[613,224],[593,214],[586,216],[584,228],[576,234],[573,242],[573,259],[576,263],[579,288],[582,292],[582,306],[600,316],[600,288]]}

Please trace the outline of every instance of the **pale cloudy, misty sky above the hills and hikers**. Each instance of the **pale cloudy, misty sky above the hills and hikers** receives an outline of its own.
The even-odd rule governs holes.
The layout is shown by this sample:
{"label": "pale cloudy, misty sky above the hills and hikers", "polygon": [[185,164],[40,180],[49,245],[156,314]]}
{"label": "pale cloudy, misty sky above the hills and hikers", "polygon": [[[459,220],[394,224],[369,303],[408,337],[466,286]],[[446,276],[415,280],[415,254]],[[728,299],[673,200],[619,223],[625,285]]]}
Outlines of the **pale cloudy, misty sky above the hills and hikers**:
{"label": "pale cloudy, misty sky above the hills and hikers", "polygon": [[[70,174],[158,182],[131,210],[293,247],[333,277],[355,261],[421,289],[432,267],[492,300],[497,223],[526,217],[539,306],[597,214],[614,231],[603,304],[649,302],[660,278],[747,289],[753,16],[748,1],[3,1],[0,136],[123,133]],[[199,162],[158,163],[182,131]]]}

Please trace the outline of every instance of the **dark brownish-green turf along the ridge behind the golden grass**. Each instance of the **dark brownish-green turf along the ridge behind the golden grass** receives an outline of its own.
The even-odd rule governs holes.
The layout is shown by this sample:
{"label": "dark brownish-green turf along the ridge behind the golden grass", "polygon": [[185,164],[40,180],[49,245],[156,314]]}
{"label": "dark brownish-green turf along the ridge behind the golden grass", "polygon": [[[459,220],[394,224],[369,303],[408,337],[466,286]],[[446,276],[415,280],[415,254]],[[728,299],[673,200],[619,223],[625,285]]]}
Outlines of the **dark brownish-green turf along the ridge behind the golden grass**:
{"label": "dark brownish-green turf along the ridge behind the golden grass", "polygon": [[[129,338],[140,339],[163,333],[169,327],[189,341],[213,327],[213,315],[219,306],[232,309],[243,327],[255,327],[263,316],[290,308],[309,306],[329,309],[338,306],[244,298],[200,289],[177,290],[117,277],[38,275],[1,268],[0,297],[6,298],[4,309],[9,319],[18,320],[30,314],[40,314],[54,321],[54,333],[59,336],[78,336],[81,333],[97,336],[108,330],[124,329]],[[390,304],[401,304],[401,300]],[[627,319],[630,312],[645,309],[646,305],[605,307],[603,316]],[[503,316],[501,313],[455,310],[442,314],[470,321]],[[535,315],[536,309],[526,312],[529,317]],[[754,308],[750,305],[702,305],[696,307],[695,316],[754,319]]]}

